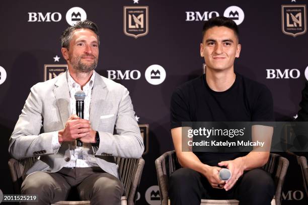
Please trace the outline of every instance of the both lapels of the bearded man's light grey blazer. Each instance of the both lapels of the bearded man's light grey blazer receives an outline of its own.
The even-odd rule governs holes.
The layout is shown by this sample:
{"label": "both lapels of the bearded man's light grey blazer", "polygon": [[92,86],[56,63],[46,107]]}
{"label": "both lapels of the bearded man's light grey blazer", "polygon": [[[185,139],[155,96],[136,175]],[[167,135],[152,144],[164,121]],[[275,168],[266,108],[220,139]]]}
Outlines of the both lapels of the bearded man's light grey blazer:
{"label": "both lapels of the bearded man's light grey blazer", "polygon": [[[58,106],[63,128],[66,121],[69,118],[69,90],[66,78],[66,72],[59,75],[55,81],[54,95],[56,98],[56,104]],[[104,108],[104,102],[106,101],[108,89],[100,74],[93,72],[95,75],[94,86],[91,94],[90,103],[90,121],[92,129],[96,130],[98,127],[99,119],[101,116],[100,110]]]}

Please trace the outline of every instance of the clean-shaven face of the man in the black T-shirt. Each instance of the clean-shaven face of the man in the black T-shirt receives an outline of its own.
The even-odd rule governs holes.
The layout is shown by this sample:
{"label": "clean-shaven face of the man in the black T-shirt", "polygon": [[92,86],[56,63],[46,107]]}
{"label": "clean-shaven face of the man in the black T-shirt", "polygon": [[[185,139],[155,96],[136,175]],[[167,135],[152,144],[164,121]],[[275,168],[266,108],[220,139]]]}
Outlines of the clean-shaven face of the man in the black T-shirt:
{"label": "clean-shaven face of the man in the black T-shirt", "polygon": [[200,44],[200,55],[204,57],[206,69],[233,69],[234,60],[240,57],[240,52],[241,45],[236,34],[224,26],[208,29]]}

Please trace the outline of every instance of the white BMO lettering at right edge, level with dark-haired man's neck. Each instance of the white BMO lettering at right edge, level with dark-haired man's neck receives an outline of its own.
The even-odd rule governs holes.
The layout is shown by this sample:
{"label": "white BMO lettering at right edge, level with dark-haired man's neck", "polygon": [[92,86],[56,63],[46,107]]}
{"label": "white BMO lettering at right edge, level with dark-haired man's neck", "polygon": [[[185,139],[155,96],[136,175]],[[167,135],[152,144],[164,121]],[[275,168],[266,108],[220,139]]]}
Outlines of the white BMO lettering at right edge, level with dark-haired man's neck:
{"label": "white BMO lettering at right edge, level with dark-haired man's neck", "polygon": [[298,69],[266,69],[266,79],[296,79],[299,78],[300,72]]}

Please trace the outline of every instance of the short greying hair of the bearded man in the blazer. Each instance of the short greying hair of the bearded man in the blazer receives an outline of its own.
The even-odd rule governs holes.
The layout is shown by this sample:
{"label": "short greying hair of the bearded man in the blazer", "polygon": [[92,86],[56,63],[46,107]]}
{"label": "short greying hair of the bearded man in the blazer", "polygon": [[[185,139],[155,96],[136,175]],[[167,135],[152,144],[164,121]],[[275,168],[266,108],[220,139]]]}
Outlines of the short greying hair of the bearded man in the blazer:
{"label": "short greying hair of the bearded man in the blazer", "polygon": [[72,33],[74,30],[77,30],[77,29],[90,29],[97,35],[97,40],[98,40],[98,43],[100,44],[100,37],[99,37],[99,31],[98,31],[97,25],[92,21],[84,20],[84,21],[77,22],[75,25],[68,27],[67,29],[63,31],[63,33],[61,34],[61,38],[60,38],[62,48],[68,49],[69,41],[72,36]]}

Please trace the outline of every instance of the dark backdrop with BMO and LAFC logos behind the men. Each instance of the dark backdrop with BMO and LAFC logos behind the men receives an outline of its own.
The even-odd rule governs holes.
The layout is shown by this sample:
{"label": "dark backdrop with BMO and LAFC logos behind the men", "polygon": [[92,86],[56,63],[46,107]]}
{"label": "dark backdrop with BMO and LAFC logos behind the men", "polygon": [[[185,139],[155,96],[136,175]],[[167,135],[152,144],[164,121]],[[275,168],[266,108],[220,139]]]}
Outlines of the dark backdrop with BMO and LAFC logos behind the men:
{"label": "dark backdrop with BMO and LAFC logos behind the men", "polygon": [[[61,32],[89,19],[100,29],[96,71],[128,88],[145,136],[138,204],[160,204],[154,161],[173,150],[169,130],[173,90],[202,74],[203,23],[232,18],[242,52],[235,70],[272,92],[276,121],[292,121],[308,79],[307,1],[2,1],[0,46],[0,189],[13,193],[8,140],[30,87],[66,70]],[[282,204],[306,204],[296,158],[290,161]],[[307,156],[306,153],[301,153]]]}

